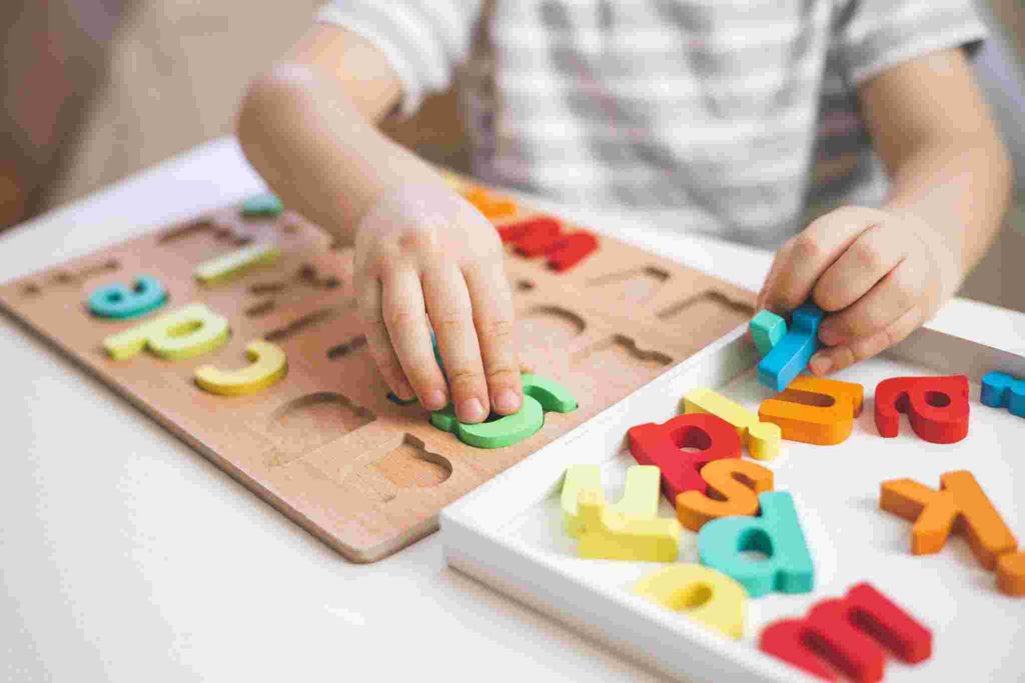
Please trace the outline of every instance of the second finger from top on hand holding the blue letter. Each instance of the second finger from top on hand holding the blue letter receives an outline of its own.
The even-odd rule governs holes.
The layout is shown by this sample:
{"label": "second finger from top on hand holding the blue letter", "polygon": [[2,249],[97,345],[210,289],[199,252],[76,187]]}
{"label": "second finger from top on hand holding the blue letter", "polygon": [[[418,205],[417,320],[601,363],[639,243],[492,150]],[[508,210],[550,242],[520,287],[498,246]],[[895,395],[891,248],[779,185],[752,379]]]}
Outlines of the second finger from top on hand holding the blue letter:
{"label": "second finger from top on hand holding the blue letter", "polygon": [[872,225],[819,278],[813,298],[826,311],[843,310],[860,299],[904,260],[907,250],[895,244],[883,223]]}

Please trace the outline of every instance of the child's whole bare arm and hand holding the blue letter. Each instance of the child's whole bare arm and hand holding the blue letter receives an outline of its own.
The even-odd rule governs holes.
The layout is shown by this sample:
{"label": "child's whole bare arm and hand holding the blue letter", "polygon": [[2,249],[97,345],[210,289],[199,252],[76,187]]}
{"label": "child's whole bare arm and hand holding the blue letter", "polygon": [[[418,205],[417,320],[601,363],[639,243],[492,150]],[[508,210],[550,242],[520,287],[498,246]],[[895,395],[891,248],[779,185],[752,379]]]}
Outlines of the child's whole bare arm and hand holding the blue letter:
{"label": "child's whole bare arm and hand holding the blue letter", "polygon": [[776,254],[757,306],[833,314],[812,358],[842,370],[926,323],[979,262],[1008,208],[1011,163],[960,49],[867,81],[860,99],[891,177],[881,210],[826,214]]}

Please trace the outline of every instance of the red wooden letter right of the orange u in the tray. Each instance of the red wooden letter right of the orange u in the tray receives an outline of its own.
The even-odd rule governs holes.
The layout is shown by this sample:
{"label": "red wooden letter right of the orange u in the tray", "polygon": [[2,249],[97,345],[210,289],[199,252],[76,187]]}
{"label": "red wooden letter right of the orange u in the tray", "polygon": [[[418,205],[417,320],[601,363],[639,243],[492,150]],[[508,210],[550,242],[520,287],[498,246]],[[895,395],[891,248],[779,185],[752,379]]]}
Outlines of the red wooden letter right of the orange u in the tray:
{"label": "red wooden letter right of the orange u in the tray", "polygon": [[968,436],[968,377],[894,377],[875,387],[875,428],[892,438],[906,413],[914,433],[933,443]]}

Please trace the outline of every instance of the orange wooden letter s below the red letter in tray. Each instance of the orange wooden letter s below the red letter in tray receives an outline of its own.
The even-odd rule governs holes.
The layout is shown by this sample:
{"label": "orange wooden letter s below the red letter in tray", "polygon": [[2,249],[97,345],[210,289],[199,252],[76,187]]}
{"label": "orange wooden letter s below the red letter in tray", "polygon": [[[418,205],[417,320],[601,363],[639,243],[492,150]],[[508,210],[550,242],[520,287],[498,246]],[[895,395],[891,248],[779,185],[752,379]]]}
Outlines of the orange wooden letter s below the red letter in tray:
{"label": "orange wooden letter s below the red letter in tray", "polygon": [[719,517],[754,516],[758,494],[772,490],[772,470],[739,458],[713,460],[701,468],[708,493],[688,490],[676,497],[676,518],[685,528],[698,531]]}

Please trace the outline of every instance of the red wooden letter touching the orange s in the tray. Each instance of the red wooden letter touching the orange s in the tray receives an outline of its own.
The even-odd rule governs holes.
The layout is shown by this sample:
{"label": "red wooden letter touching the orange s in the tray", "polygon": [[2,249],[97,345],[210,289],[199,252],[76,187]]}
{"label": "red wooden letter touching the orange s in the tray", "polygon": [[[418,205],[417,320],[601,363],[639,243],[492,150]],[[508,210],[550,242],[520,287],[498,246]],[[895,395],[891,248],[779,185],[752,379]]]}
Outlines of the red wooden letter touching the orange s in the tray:
{"label": "red wooden letter touching the orange s in the tray", "polygon": [[[685,490],[702,494],[708,484],[700,469],[724,458],[740,458],[740,437],[726,420],[714,415],[678,415],[662,424],[649,422],[630,427],[630,455],[642,465],[654,465],[662,472],[662,492],[675,505]],[[697,453],[681,449],[700,449]]]}

